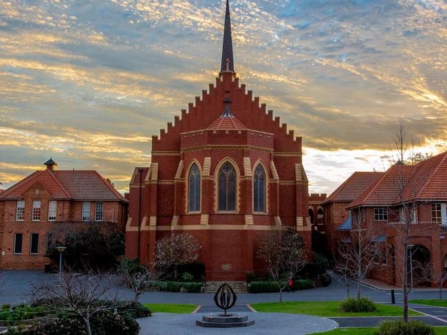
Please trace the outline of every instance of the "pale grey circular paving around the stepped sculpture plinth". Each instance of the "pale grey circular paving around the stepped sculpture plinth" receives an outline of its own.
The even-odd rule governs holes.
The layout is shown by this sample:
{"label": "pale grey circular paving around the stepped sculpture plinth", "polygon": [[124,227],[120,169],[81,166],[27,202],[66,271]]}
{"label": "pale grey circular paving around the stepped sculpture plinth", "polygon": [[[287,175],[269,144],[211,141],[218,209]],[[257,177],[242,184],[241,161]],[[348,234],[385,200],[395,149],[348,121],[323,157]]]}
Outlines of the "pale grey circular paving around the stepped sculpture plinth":
{"label": "pale grey circular paving around the stepped sculpture plinth", "polygon": [[318,316],[285,314],[285,313],[252,313],[250,319],[254,325],[243,328],[203,328],[195,325],[195,321],[208,314],[165,314],[155,313],[149,318],[140,318],[140,335],[304,335],[327,332],[338,327],[338,323]]}

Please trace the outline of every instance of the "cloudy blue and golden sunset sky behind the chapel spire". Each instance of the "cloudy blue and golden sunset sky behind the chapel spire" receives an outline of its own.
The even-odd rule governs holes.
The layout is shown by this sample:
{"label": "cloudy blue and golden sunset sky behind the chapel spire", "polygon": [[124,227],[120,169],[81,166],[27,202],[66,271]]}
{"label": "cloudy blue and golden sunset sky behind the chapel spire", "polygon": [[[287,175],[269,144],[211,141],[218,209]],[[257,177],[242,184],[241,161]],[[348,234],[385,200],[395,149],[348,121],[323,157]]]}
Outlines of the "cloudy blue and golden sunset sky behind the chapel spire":
{"label": "cloudy blue and golden sunset sky behind the chapel spire", "polygon": [[[235,70],[303,136],[309,191],[447,148],[447,2],[231,0]],[[0,182],[52,157],[119,191],[219,72],[223,0],[0,0]]]}

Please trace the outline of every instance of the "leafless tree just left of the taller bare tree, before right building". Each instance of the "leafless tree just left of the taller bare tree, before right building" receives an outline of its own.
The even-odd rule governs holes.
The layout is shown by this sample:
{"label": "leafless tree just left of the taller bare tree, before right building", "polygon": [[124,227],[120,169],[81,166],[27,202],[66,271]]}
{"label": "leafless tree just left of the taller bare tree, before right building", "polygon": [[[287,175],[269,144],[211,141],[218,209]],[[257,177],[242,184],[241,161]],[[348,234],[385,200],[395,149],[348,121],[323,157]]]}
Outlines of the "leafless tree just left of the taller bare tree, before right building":
{"label": "leafless tree just left of the taller bare tree, before right building", "polygon": [[362,281],[373,267],[382,264],[380,257],[384,243],[377,240],[382,235],[380,227],[367,226],[364,208],[351,210],[351,222],[349,242],[338,247],[338,258],[341,259],[338,270],[357,282],[357,299],[360,299]]}

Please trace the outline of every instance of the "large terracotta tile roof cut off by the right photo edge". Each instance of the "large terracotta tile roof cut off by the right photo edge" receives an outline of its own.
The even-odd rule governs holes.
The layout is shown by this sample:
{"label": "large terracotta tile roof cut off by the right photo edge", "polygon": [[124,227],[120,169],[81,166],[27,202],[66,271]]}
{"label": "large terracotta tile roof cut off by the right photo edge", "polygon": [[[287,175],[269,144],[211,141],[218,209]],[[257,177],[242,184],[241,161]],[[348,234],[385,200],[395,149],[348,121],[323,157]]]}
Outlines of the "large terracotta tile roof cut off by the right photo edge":
{"label": "large terracotta tile roof cut off by the right photo edge", "polygon": [[371,184],[349,208],[389,206],[402,201],[447,199],[447,152],[415,165],[395,164]]}

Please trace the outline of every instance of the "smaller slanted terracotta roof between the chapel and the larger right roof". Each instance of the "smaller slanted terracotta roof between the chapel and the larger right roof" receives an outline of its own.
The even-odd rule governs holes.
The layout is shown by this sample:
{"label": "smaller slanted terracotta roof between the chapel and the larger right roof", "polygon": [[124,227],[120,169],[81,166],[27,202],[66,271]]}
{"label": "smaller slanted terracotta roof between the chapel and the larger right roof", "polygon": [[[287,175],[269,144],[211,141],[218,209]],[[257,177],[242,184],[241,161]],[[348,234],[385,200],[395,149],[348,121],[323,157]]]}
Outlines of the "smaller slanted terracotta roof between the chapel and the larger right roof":
{"label": "smaller slanted terracotta roof between the chapel and the larger right roof", "polygon": [[351,202],[366,190],[383,172],[354,172],[343,184],[325,199],[329,202]]}

